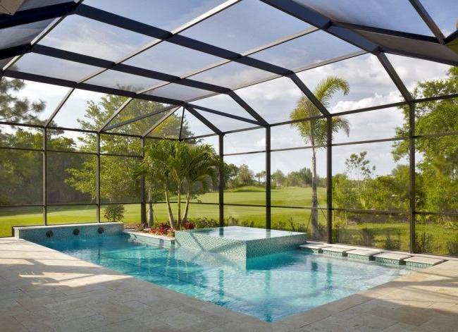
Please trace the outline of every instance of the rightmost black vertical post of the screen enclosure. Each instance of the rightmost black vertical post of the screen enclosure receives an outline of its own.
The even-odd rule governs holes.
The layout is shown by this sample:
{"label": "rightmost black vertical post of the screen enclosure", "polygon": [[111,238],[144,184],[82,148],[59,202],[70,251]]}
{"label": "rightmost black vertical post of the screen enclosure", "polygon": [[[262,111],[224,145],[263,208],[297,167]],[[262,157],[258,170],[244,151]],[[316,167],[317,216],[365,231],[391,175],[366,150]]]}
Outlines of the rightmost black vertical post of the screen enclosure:
{"label": "rightmost black vertical post of the screen enclosure", "polygon": [[409,104],[409,251],[415,252],[415,105]]}

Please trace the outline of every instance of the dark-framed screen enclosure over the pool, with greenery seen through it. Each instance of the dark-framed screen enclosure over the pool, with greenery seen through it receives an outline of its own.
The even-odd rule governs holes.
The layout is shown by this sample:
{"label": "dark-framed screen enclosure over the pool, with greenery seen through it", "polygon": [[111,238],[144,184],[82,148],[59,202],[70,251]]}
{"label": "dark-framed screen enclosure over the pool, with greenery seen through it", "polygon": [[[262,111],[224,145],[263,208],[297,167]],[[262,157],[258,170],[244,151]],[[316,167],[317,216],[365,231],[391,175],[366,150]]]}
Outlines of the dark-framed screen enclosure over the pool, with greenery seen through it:
{"label": "dark-framed screen enclosure over the pool, with greenery seen through it", "polygon": [[165,221],[130,172],[184,140],[224,161],[191,220],[458,255],[457,1],[11,2],[0,236]]}

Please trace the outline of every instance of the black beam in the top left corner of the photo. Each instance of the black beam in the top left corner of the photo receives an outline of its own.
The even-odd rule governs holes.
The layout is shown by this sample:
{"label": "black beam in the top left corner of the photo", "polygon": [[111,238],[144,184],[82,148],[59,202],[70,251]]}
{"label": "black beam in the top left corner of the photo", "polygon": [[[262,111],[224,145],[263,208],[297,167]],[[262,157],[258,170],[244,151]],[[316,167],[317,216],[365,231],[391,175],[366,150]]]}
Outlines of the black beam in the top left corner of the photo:
{"label": "black beam in the top left corner of the photo", "polygon": [[68,1],[62,4],[17,11],[14,15],[3,14],[0,15],[0,29],[67,16],[73,14],[77,7],[78,4],[75,1]]}

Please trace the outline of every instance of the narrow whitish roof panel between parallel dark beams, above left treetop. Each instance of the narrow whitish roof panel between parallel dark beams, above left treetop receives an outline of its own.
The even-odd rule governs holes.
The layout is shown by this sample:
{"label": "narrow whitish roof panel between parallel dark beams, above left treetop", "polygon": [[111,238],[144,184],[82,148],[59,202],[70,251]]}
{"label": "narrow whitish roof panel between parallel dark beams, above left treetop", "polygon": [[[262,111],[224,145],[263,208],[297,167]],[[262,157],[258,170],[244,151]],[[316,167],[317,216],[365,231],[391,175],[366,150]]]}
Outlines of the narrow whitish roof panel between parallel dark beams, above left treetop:
{"label": "narrow whitish roof panel between parallel dark beams, above left treetop", "polygon": [[117,70],[105,70],[103,73],[85,81],[85,83],[138,92],[164,82],[153,78],[145,78],[144,76],[122,73]]}

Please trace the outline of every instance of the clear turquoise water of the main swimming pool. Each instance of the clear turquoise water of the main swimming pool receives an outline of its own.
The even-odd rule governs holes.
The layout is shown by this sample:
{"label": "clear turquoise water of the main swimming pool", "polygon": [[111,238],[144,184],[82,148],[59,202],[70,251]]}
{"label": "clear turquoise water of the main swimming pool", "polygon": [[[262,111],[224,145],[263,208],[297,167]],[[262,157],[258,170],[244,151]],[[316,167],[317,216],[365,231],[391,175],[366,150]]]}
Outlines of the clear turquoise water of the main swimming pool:
{"label": "clear turquoise water of the main swimming pool", "polygon": [[123,235],[41,244],[263,321],[277,321],[409,273],[300,250],[236,264],[216,254],[129,242]]}

